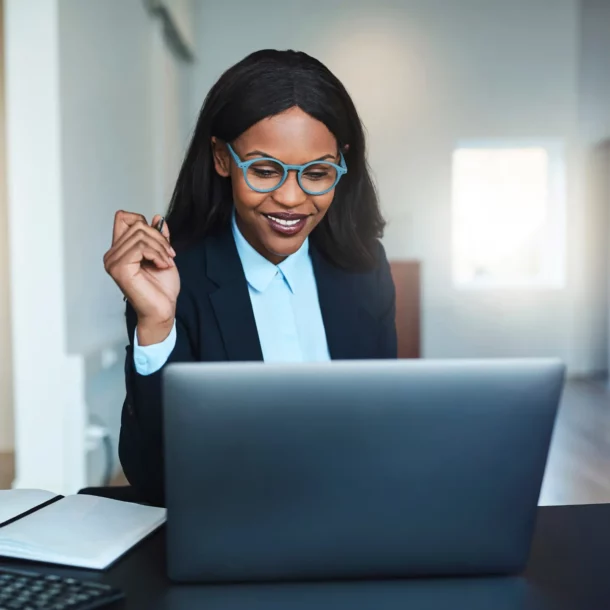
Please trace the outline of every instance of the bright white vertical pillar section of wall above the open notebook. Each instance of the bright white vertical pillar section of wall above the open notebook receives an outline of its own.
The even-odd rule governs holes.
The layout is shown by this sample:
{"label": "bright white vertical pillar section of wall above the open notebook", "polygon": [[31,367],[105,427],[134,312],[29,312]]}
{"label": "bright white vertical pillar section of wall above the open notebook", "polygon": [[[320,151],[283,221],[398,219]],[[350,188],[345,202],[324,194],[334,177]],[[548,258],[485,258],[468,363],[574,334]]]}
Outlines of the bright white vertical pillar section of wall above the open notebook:
{"label": "bright white vertical pillar section of wall above the open notebook", "polygon": [[5,2],[15,485],[65,493],[85,482],[85,413],[65,350],[58,26],[56,2]]}

